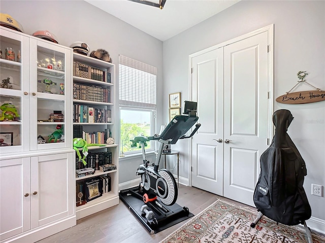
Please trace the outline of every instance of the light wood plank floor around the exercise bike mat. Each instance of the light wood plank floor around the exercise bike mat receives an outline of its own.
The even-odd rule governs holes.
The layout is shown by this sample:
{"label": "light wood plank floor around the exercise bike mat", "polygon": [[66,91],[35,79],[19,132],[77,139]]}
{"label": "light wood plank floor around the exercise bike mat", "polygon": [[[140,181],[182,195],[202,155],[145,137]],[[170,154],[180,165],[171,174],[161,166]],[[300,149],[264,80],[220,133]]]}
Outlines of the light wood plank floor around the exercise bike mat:
{"label": "light wood plank floor around the exercise bike mat", "polygon": [[[176,203],[182,207],[186,206],[191,213],[197,215],[214,203],[217,198],[219,198],[219,196],[210,192],[195,187],[179,185],[178,199]],[[76,226],[51,235],[38,242],[160,242],[166,236],[185,224],[188,220],[180,222],[156,234],[150,235],[138,219],[120,200],[119,205],[82,218],[77,221]]]}

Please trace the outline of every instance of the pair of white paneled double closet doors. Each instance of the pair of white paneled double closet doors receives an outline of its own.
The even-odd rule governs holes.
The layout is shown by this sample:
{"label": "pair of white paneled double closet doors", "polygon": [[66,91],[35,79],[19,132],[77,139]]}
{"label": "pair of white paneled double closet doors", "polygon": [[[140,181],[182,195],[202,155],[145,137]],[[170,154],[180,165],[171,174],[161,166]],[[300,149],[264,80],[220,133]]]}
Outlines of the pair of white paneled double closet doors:
{"label": "pair of white paneled double closet doors", "polygon": [[265,31],[192,58],[192,186],[251,206],[268,147],[267,47]]}

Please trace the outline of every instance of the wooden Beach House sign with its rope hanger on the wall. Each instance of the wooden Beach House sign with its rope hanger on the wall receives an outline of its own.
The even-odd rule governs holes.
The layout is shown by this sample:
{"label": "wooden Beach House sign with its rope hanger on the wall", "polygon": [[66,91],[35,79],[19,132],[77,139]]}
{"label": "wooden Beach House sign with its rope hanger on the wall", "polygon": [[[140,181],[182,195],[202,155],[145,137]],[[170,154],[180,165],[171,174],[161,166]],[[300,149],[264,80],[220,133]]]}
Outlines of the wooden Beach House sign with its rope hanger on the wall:
{"label": "wooden Beach House sign with its rope hanger on the wall", "polygon": [[291,90],[295,89],[301,83],[305,83],[315,90],[308,90],[308,91],[301,91],[301,92],[294,92],[290,93],[291,90],[285,93],[285,95],[281,95],[275,100],[279,103],[283,104],[306,104],[306,103],[314,103],[318,101],[325,100],[325,91],[321,91],[320,89],[312,86],[311,84],[307,83],[305,77],[308,75],[306,71],[299,71],[297,76],[300,80],[298,80],[298,84],[294,86]]}

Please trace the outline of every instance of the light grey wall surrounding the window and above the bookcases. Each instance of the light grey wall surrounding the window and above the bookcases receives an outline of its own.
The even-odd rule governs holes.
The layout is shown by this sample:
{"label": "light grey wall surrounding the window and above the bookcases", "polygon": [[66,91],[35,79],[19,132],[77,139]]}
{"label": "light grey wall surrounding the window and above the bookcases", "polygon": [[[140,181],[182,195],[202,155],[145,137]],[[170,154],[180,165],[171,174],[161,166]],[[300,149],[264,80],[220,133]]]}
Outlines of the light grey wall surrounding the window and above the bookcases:
{"label": "light grey wall surrounding the window and above the bookcases", "polygon": [[[48,30],[63,46],[70,47],[72,43],[82,41],[89,45],[91,51],[99,48],[107,50],[116,65],[116,90],[119,54],[157,67],[157,89],[163,89],[163,42],[87,2],[1,0],[0,12],[16,19],[26,34]],[[162,110],[161,99],[161,92],[157,92],[158,111]],[[118,108],[116,113],[118,115]],[[119,117],[116,118],[116,134],[119,134]],[[157,112],[158,129],[161,120],[162,113]],[[119,143],[117,136],[114,139]],[[120,161],[119,182],[139,178],[135,172],[140,164],[142,159]]]}

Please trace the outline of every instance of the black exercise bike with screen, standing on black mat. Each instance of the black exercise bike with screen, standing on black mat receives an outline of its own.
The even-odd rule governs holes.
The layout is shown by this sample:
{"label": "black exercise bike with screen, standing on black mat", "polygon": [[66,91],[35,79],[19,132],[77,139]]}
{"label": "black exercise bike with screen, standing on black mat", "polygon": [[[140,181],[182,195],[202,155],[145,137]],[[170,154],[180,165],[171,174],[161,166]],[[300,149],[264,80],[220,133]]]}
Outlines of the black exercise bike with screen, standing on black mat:
{"label": "black exercise bike with screen, standing on black mat", "polygon": [[[185,101],[184,114],[176,115],[160,135],[152,137],[139,136],[131,140],[132,147],[139,144],[142,149],[143,164],[136,171],[136,174],[141,176],[141,182],[137,190],[127,190],[124,194],[132,194],[143,200],[145,205],[141,207],[141,212],[135,212],[136,210],[132,205],[129,205],[129,209],[135,213],[150,233],[154,232],[152,228],[161,227],[189,215],[188,208],[182,208],[176,204],[178,189],[173,174],[167,169],[158,170],[158,168],[166,144],[175,144],[179,139],[190,138],[201,127],[201,124],[196,124],[199,119],[196,113],[197,102]],[[186,136],[185,134],[194,124],[196,124],[194,130],[189,136]],[[145,152],[147,142],[151,140],[160,143],[154,164],[150,164]],[[123,191],[121,192],[123,193]],[[129,203],[125,202],[126,196],[121,197],[121,192],[120,198],[128,205]],[[139,214],[146,220],[140,217]]]}

